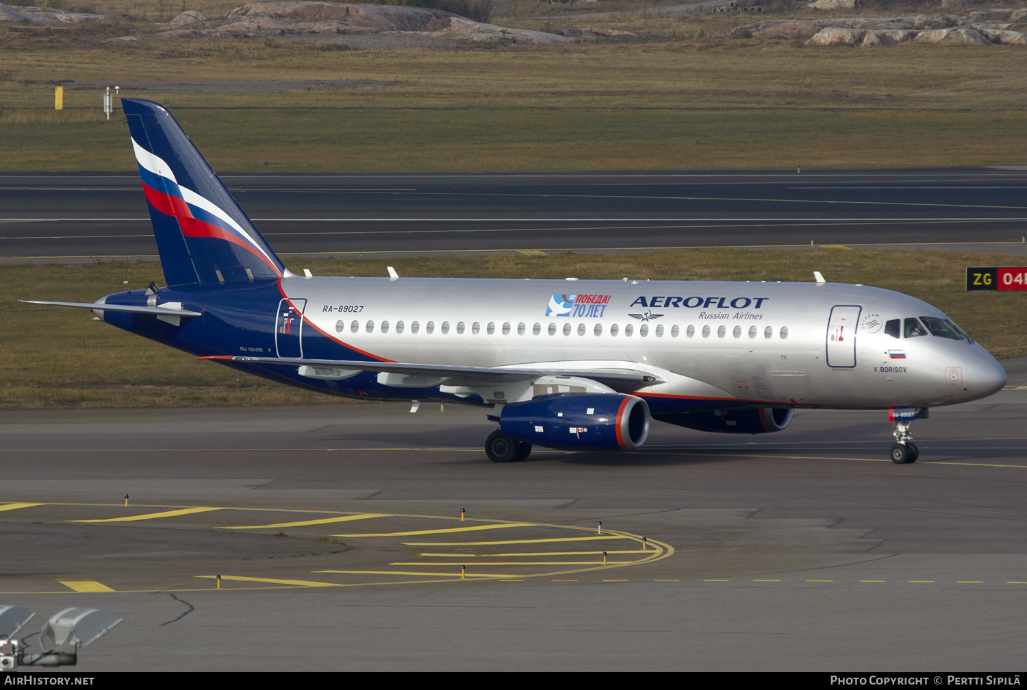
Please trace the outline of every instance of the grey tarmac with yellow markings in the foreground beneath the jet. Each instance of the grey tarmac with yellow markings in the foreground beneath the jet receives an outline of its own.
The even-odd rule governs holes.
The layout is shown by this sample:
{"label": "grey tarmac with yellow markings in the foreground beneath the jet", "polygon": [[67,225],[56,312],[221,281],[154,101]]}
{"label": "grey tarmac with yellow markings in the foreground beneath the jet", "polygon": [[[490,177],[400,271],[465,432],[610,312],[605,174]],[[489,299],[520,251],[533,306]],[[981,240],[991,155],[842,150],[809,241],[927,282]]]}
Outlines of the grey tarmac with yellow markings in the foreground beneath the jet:
{"label": "grey tarmac with yellow markings in the foreground beneath the jet", "polygon": [[123,616],[86,673],[1018,670],[1007,365],[909,466],[884,412],[512,465],[453,405],[4,412],[0,604]]}

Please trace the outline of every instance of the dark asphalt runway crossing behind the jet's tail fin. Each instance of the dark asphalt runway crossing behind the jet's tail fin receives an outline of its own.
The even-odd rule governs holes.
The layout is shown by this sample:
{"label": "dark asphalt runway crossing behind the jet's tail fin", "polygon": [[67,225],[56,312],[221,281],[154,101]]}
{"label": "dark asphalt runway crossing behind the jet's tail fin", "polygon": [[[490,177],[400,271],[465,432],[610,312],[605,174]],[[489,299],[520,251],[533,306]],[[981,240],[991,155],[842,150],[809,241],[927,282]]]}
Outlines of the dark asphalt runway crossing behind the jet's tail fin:
{"label": "dark asphalt runway crossing behind the jet's tail fin", "polygon": [[[846,245],[1027,253],[1027,169],[225,174],[276,252]],[[155,258],[134,173],[0,173],[5,262]]]}

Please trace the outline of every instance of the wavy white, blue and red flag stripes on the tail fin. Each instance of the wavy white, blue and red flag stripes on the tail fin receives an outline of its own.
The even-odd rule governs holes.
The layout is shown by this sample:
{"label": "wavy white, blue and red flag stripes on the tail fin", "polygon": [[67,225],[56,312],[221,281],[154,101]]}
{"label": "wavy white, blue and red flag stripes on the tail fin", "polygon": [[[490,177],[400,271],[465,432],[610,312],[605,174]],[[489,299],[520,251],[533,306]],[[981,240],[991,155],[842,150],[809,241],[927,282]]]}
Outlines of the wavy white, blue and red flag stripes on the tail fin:
{"label": "wavy white, blue and red flag stripes on the tail fin", "polygon": [[243,247],[279,274],[274,260],[250,233],[211,201],[188,187],[180,186],[170,166],[158,155],[147,151],[132,139],[136,160],[143,177],[143,190],[153,208],[179,220],[188,238],[218,238]]}

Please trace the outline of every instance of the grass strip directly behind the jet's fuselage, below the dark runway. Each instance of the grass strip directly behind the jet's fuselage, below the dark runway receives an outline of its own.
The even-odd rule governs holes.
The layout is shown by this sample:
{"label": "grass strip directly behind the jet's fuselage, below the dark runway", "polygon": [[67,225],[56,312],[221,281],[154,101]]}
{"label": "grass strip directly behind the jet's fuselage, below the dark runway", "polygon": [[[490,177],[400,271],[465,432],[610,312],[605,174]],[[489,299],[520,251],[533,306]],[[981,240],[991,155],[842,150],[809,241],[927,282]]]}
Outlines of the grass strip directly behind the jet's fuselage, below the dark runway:
{"label": "grass strip directly behind the jet's fuselage, below the dark runway", "polygon": [[[290,262],[294,263],[294,262]],[[1025,265],[1022,256],[923,251],[693,250],[651,254],[496,254],[389,259],[401,276],[809,281],[898,290],[944,310],[996,357],[1027,355],[1023,295],[965,292],[967,265]],[[318,276],[385,276],[386,260],[303,259]],[[20,299],[92,301],[160,279],[154,262],[0,267],[0,409],[337,404],[240,375],[106,324],[91,314]]]}

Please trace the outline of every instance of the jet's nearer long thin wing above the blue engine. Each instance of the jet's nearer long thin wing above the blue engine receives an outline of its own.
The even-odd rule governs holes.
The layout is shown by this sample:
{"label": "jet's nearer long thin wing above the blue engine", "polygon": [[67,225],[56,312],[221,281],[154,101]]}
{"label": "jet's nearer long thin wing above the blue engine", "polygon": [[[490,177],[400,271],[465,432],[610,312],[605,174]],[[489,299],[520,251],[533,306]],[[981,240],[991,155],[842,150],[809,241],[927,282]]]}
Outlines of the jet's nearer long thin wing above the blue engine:
{"label": "jet's nearer long thin wing above the blue engine", "polygon": [[[431,378],[457,379],[451,384],[463,386],[502,382],[527,380],[539,376],[575,376],[591,378],[614,390],[632,390],[641,386],[664,383],[662,378],[647,371],[633,369],[583,369],[572,368],[521,368],[521,367],[478,367],[451,366],[446,364],[409,364],[406,362],[379,362],[368,360],[333,359],[290,359],[286,357],[236,357],[213,355],[199,357],[201,360],[221,360],[243,364],[286,364],[292,366],[326,367],[340,370],[338,378],[345,378],[360,371],[400,373]],[[325,376],[326,378],[330,376]]]}

